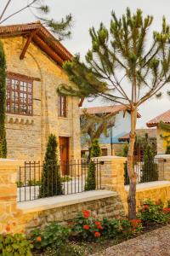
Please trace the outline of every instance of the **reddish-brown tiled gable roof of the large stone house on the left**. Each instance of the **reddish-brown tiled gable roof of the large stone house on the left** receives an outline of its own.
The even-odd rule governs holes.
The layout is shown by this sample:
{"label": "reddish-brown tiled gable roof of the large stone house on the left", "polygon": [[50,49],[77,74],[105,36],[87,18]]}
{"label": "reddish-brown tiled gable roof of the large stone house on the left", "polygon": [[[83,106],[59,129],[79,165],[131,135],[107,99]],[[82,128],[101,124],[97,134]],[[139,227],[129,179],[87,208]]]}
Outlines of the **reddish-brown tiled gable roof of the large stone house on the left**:
{"label": "reddish-brown tiled gable roof of the large stone house on the left", "polygon": [[64,61],[71,60],[71,53],[61,44],[40,21],[11,26],[0,26],[0,38],[23,36],[30,38],[34,44],[42,49],[57,64],[62,66]]}

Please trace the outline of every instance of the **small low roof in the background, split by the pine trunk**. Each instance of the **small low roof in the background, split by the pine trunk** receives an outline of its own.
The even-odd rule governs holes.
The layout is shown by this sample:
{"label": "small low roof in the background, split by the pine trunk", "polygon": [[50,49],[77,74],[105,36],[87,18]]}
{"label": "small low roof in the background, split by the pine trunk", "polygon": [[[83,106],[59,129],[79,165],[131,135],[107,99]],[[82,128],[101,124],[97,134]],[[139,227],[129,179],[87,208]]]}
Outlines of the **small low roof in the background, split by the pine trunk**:
{"label": "small low roof in the background, split by the pine trunk", "polygon": [[[144,137],[145,134],[148,134],[150,138],[156,138],[156,129],[136,129],[137,136]],[[129,140],[129,133],[119,137],[119,142],[127,142]]]}

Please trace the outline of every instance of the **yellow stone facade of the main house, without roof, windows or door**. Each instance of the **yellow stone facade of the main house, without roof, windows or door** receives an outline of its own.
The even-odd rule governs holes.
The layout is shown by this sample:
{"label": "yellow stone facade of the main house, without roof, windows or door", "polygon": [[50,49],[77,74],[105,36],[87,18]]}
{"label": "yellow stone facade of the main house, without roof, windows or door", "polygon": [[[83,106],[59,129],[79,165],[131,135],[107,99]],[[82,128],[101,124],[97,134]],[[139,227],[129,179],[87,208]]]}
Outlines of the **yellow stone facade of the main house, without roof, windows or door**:
{"label": "yellow stone facade of the main house, without roof, windows or door", "polygon": [[36,44],[30,44],[25,58],[20,52],[26,44],[24,37],[2,38],[7,70],[34,77],[33,115],[7,114],[6,131],[8,157],[19,160],[42,160],[48,135],[70,138],[70,159],[80,159],[80,121],[78,99],[67,98],[67,116],[58,116],[56,89],[68,78],[61,67],[48,57]]}

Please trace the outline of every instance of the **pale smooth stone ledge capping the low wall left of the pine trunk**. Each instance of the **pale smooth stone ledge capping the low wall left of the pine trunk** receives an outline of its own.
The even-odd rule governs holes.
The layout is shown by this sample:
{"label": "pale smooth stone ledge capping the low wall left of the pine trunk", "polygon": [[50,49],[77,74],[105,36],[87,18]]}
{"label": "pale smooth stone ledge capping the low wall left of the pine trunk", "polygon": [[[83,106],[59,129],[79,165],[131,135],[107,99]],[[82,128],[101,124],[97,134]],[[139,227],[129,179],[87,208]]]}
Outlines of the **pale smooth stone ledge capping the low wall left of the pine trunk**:
{"label": "pale smooth stone ledge capping the low wall left of the pine trunk", "polygon": [[70,206],[86,201],[95,201],[108,197],[115,197],[116,192],[100,189],[87,191],[72,195],[57,195],[48,198],[42,198],[34,201],[24,201],[17,204],[18,210],[22,213],[39,212],[57,207]]}

